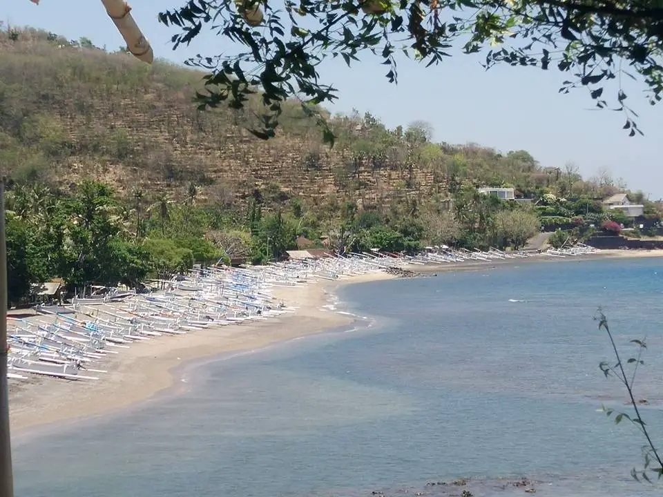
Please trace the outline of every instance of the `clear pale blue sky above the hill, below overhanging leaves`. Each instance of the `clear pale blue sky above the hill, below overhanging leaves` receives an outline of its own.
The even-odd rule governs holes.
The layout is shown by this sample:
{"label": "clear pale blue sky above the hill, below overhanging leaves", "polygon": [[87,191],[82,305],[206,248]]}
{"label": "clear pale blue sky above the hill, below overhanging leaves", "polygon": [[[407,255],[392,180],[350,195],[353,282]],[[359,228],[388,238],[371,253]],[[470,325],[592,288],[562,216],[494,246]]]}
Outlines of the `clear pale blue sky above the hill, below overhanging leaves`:
{"label": "clear pale blue sky above the hill, below overhanging leaves", "polygon": [[[177,28],[157,21],[159,10],[184,4],[184,0],[132,0],[132,14],[150,40],[155,57],[182,63],[202,53],[228,50],[229,41],[204,32],[191,46],[172,50],[170,39]],[[4,1],[0,20],[8,25],[33,26],[68,39],[86,37],[96,46],[115,50],[125,43],[101,1]],[[367,59],[347,68],[340,59],[325,61],[320,75],[339,90],[329,110],[362,115],[369,112],[394,128],[423,120],[432,125],[434,140],[450,144],[476,143],[503,153],[528,150],[542,166],[577,165],[584,177],[609,170],[628,187],[642,190],[650,199],[663,198],[663,107],[650,106],[644,95],[631,91],[628,101],[640,117],[644,136],[628,137],[622,129],[624,115],[593,107],[587,92],[559,94],[566,79],[557,70],[499,66],[484,70],[480,57],[459,55],[438,66],[403,59],[398,85],[384,77],[387,69],[378,59]]]}

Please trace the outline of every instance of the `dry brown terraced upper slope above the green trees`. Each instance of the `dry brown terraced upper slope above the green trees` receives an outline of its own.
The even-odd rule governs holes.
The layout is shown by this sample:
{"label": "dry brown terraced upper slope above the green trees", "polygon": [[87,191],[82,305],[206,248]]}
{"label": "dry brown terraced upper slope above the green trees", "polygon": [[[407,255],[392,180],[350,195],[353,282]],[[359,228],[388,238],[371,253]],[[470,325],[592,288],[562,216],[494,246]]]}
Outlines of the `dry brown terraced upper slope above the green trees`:
{"label": "dry brown terraced upper slope above the green trees", "polygon": [[[430,144],[425,126],[385,130],[370,116],[334,118],[329,150],[293,104],[278,136],[245,129],[250,110],[200,112],[191,102],[201,73],[146,66],[85,39],[37,30],[0,32],[0,161],[15,179],[59,186],[95,177],[128,192],[240,199],[255,194],[331,196],[379,204],[445,196],[454,174],[475,182],[545,185],[550,173],[525,152]],[[415,133],[416,131],[416,133]],[[224,201],[226,201],[224,200]]]}

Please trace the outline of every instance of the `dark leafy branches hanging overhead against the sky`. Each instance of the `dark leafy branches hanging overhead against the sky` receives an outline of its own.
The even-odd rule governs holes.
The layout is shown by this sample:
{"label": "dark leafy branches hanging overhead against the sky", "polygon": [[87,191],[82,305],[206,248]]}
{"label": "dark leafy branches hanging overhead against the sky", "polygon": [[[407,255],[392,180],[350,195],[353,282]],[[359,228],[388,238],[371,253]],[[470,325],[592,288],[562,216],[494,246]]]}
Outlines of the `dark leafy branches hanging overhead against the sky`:
{"label": "dark leafy branches hanging overhead against the sky", "polygon": [[[343,57],[348,66],[378,57],[390,82],[398,79],[401,52],[426,66],[454,50],[485,51],[486,68],[556,66],[567,74],[560,91],[584,86],[599,108],[624,110],[631,135],[639,131],[626,93],[617,84],[613,97],[604,96],[608,81],[622,74],[640,79],[651,104],[663,91],[663,7],[655,0],[189,0],[159,19],[181,29],[174,48],[206,27],[233,43],[230,53],[189,60],[210,72],[197,99],[202,108],[223,102],[241,108],[260,92],[267,112],[253,133],[265,139],[291,97],[324,125],[315,106],[337,97],[318,75],[328,57]],[[333,142],[326,126],[324,135]]]}

